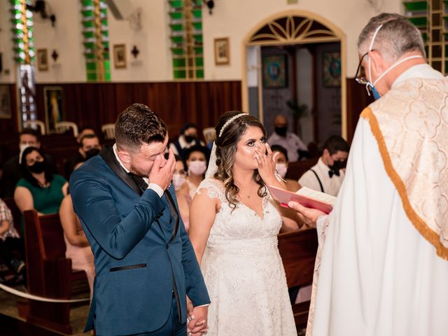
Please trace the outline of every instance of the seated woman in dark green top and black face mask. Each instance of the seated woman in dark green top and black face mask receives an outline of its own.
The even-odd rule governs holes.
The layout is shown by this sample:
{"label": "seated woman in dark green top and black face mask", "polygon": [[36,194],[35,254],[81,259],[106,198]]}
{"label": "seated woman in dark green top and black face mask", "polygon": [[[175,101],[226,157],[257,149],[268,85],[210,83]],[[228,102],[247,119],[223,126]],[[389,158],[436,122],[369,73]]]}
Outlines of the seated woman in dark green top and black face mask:
{"label": "seated woman in dark green top and black face mask", "polygon": [[62,176],[51,173],[45,156],[36,147],[23,151],[20,167],[24,177],[14,192],[15,204],[20,211],[36,209],[41,215],[57,213],[69,183]]}

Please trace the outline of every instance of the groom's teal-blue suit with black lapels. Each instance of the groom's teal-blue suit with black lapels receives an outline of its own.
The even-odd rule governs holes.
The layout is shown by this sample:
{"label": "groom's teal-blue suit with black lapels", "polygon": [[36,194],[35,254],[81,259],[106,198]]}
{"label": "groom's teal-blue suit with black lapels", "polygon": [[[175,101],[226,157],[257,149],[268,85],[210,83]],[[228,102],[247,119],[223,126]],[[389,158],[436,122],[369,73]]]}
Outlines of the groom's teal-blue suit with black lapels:
{"label": "groom's teal-blue suit with black lapels", "polygon": [[70,192],[96,271],[86,330],[152,332],[172,306],[186,322],[186,295],[195,306],[210,302],[172,187],[162,198],[141,190],[104,148],[73,173]]}

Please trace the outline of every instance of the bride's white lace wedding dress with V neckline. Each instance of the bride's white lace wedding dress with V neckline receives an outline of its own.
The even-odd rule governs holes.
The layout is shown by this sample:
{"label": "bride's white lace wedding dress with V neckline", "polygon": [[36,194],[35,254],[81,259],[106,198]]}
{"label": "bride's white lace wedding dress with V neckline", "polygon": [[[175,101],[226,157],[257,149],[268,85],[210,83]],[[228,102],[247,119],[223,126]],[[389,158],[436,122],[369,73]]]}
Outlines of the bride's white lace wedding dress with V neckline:
{"label": "bride's white lace wedding dress with V neckline", "polygon": [[264,197],[261,218],[241,202],[232,211],[219,181],[202,181],[197,193],[204,192],[221,201],[201,263],[211,299],[207,335],[297,335],[272,197]]}

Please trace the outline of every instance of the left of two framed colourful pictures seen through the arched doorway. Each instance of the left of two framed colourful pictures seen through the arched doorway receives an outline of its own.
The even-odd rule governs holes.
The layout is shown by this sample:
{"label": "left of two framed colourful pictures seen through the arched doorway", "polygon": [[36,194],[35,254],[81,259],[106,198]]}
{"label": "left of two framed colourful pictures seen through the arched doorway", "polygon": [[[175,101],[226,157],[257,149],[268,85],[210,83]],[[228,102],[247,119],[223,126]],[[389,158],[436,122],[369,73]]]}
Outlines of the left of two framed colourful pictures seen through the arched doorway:
{"label": "left of two framed colourful pictures seen through the arched doorway", "polygon": [[265,55],[262,57],[263,87],[287,87],[287,73],[286,55]]}

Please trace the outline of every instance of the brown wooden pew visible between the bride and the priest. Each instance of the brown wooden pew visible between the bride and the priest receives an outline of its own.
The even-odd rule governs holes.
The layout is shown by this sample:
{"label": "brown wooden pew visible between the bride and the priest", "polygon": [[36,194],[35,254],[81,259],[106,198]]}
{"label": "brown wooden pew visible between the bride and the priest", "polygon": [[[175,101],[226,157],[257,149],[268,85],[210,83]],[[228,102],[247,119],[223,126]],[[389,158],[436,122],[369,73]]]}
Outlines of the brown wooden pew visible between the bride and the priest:
{"label": "brown wooden pew visible between the bride and the priest", "polygon": [[[311,285],[318,246],[316,229],[281,233],[278,237],[288,288]],[[309,303],[293,304],[297,331],[307,325]]]}

